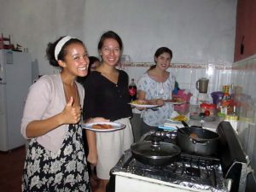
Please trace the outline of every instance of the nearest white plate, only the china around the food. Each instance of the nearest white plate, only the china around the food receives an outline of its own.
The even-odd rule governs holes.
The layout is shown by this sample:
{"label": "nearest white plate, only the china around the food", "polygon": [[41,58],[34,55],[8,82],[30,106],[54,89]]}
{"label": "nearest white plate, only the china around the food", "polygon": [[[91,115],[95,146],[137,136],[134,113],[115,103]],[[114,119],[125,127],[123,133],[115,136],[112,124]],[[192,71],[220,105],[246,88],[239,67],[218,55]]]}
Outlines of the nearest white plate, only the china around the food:
{"label": "nearest white plate, only the china around the food", "polygon": [[[96,125],[96,124],[112,125],[113,128],[111,128],[111,129],[95,129],[95,128],[92,127],[92,125]],[[84,129],[90,130],[90,131],[96,131],[96,132],[118,131],[118,130],[124,129],[125,126],[126,126],[125,124],[116,123],[116,122],[96,122],[96,123],[82,124],[82,127]]]}

